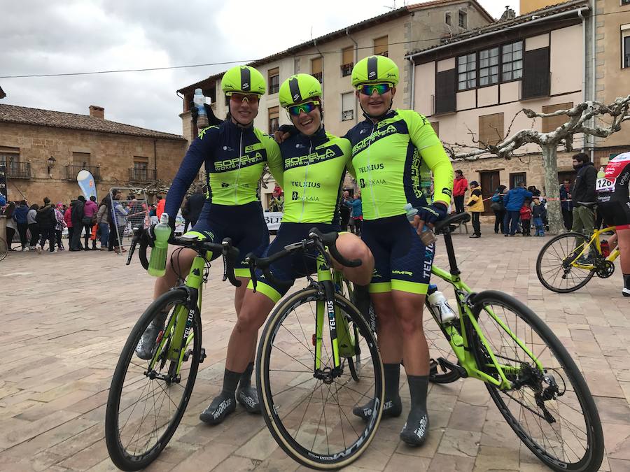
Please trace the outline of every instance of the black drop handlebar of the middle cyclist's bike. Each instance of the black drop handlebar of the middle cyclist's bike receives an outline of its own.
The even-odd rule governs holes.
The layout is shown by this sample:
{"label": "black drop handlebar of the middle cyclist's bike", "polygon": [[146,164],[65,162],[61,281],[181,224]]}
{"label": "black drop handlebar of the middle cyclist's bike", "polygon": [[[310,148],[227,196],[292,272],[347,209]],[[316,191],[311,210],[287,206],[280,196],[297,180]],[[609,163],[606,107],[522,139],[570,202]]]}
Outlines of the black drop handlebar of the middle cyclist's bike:
{"label": "black drop handlebar of the middle cyclist's bike", "polygon": [[[360,266],[360,259],[349,260],[339,253],[339,250],[337,250],[337,245],[335,245],[338,237],[339,234],[337,234],[336,232],[322,233],[317,228],[311,228],[309,231],[309,236],[307,238],[297,243],[286,245],[283,250],[276,252],[269,257],[256,257],[255,255],[253,255],[253,253],[250,252],[245,257],[245,262],[249,264],[249,273],[251,275],[251,281],[254,287],[254,291],[256,288],[256,283],[258,281],[256,278],[255,269],[260,269],[265,278],[274,285],[279,285],[283,288],[288,288],[293,285],[293,283],[288,282],[287,280],[279,280],[275,278],[273,274],[269,271],[269,266],[271,266],[274,262],[282,259],[283,257],[286,257],[287,255],[292,254],[293,252],[304,252],[308,249],[316,248],[326,259],[328,259],[328,255],[325,252],[325,247],[328,247],[328,250],[330,250],[330,255],[332,255],[332,257],[337,262],[339,262],[339,264],[342,264],[346,267]],[[330,263],[330,261],[328,262]]]}

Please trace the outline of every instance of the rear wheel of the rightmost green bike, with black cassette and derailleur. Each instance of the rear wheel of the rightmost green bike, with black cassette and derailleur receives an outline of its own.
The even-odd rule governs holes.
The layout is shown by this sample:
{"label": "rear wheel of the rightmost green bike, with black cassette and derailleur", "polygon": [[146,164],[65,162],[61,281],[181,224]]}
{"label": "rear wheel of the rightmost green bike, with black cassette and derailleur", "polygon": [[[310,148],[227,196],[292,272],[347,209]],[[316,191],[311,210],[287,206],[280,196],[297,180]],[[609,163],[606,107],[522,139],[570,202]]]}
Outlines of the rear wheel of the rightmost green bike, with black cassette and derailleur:
{"label": "rear wheel of the rightmost green bike, with black cassette and derailleur", "polygon": [[[603,434],[597,408],[580,370],[558,338],[535,313],[507,294],[479,293],[472,313],[512,384],[510,389],[500,389],[486,382],[486,387],[524,445],[553,470],[598,470]],[[542,371],[497,320],[538,359]],[[472,323],[467,329],[479,369],[498,379]]]}

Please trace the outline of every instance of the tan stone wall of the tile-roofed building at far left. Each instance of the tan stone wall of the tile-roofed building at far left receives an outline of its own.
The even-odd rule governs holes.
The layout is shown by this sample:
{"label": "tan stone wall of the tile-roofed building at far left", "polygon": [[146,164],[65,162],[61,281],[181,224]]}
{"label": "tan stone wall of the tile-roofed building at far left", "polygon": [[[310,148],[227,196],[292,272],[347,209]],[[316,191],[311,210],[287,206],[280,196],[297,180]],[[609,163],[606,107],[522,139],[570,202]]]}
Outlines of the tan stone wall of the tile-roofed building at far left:
{"label": "tan stone wall of the tile-roofed building at far left", "polygon": [[[10,178],[8,198],[26,198],[41,202],[76,199],[80,189],[76,180],[66,180],[66,165],[73,164],[73,152],[90,155],[90,166],[99,166],[101,180],[97,194],[101,199],[111,187],[129,186],[129,169],[134,157],[148,160],[148,169],[157,169],[158,179],[172,181],[183,159],[188,143],[183,139],[149,138],[123,134],[99,133],[78,129],[2,123],[0,148],[19,148],[19,162],[30,162],[31,178]],[[48,174],[48,159],[55,165]],[[82,163],[76,163],[82,164]],[[134,184],[134,186],[142,186]]]}

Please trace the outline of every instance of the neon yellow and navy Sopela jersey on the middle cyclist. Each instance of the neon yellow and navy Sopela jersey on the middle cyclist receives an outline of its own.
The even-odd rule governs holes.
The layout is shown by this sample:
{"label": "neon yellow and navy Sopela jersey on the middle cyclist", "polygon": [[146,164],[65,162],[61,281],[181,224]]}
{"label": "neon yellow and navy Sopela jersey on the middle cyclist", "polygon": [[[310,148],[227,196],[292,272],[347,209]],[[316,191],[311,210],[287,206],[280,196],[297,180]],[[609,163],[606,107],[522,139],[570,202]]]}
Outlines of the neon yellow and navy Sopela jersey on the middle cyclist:
{"label": "neon yellow and navy Sopela jersey on the middle cyclist", "polygon": [[339,219],[341,186],[350,142],[319,129],[280,145],[284,178],[283,223],[332,223]]}

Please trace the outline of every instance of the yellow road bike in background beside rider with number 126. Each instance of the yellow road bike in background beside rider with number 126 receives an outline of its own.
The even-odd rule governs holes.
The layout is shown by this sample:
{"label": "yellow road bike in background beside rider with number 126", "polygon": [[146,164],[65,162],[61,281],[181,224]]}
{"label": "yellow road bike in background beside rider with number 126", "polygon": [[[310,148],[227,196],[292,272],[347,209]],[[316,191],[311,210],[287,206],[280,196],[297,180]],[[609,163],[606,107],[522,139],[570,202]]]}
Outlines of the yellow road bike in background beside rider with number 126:
{"label": "yellow road bike in background beside rider with number 126", "polygon": [[615,271],[619,246],[603,255],[600,236],[615,227],[593,231],[590,238],[582,233],[565,233],[542,246],[536,259],[536,275],[545,288],[557,293],[574,292],[593,276],[608,278]]}

